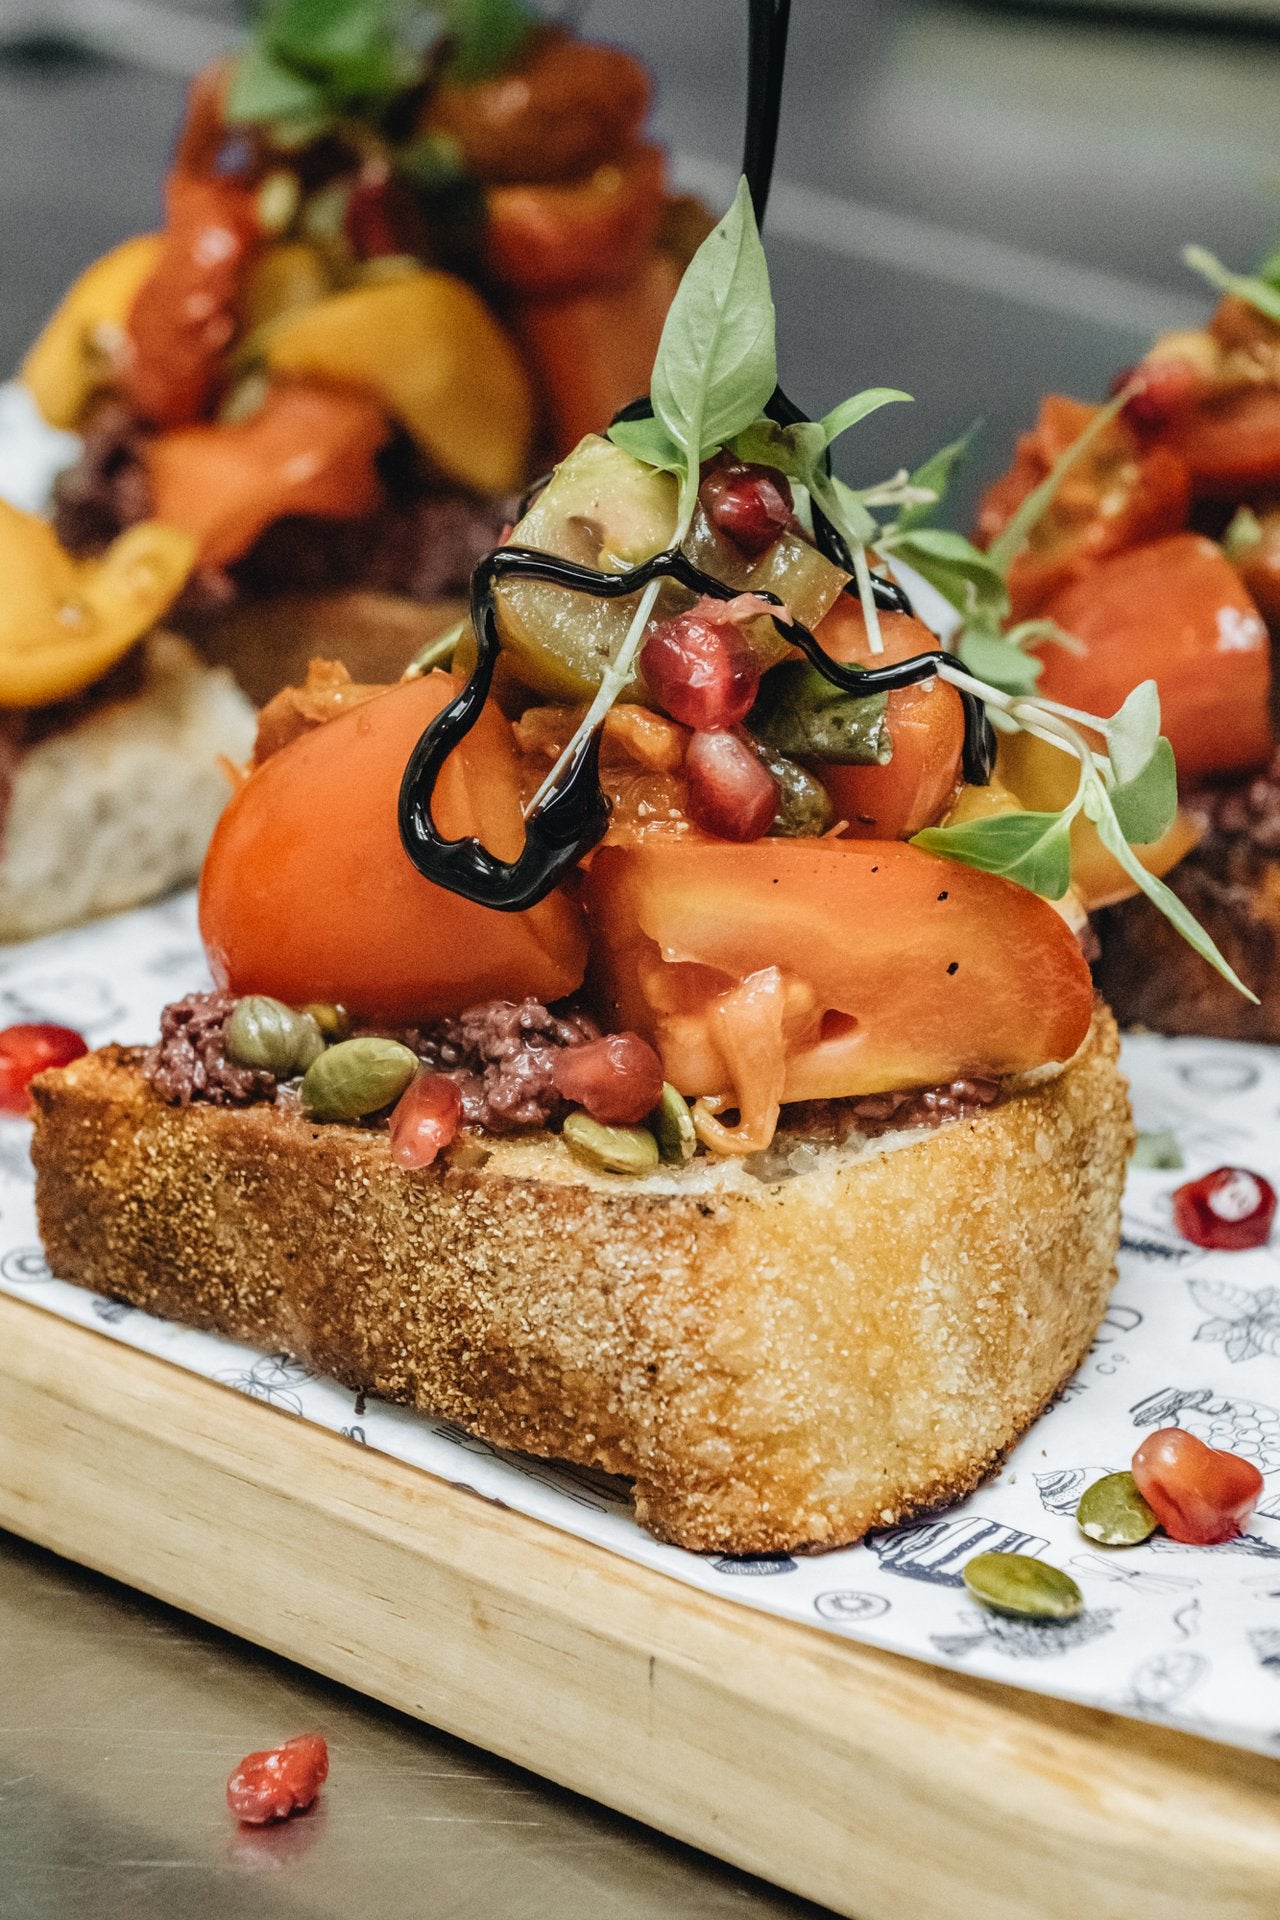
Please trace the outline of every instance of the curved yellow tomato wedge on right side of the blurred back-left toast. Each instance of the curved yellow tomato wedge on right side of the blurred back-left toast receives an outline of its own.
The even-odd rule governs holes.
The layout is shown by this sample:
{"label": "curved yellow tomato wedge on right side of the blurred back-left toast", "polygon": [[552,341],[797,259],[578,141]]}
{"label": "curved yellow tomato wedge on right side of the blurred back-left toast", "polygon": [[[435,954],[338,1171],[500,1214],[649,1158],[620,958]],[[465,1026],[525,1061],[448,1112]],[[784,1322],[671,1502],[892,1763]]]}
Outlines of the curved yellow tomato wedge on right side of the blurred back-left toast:
{"label": "curved yellow tomato wedge on right side of the blurred back-left toast", "polygon": [[526,476],[533,394],[480,294],[451,273],[403,273],[317,300],[269,328],[271,372],[365,386],[451,480],[507,493]]}

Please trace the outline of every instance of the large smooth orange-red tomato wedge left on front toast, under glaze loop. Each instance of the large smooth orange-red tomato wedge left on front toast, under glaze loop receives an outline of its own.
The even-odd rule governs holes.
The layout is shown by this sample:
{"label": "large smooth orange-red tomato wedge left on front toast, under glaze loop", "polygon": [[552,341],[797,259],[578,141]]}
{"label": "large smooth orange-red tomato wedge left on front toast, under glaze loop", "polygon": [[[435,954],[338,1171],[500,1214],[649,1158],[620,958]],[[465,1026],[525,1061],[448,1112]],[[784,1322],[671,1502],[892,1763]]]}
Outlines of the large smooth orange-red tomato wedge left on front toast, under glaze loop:
{"label": "large smooth orange-red tomato wedge left on front toast, under glaze loop", "polygon": [[[491,996],[557,1000],[581,983],[585,933],[566,895],[499,914],[434,887],[401,849],[401,774],[453,691],[445,674],[407,680],[244,781],[200,883],[219,985],[416,1021]],[[445,764],[436,820],[449,837],[478,833],[503,858],[518,852],[516,755],[493,707]]]}

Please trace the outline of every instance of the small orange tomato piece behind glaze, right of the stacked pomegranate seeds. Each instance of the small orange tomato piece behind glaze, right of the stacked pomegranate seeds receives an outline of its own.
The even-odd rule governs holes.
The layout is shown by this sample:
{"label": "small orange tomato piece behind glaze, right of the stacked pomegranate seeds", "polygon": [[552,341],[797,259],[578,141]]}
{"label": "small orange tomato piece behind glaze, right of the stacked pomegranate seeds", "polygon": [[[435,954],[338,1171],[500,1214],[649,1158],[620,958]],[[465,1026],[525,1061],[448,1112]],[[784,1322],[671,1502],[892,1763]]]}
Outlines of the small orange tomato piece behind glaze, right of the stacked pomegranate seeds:
{"label": "small orange tomato piece behind glaze, right of the stacked pomegranate seeds", "polygon": [[[816,636],[833,660],[875,666],[931,653],[938,641],[923,620],[881,614],[885,651],[873,655],[862,605],[842,593]],[[818,766],[850,839],[910,839],[950,806],[960,785],[965,708],[956,687],[925,680],[889,695],[892,760],[887,766]]]}

